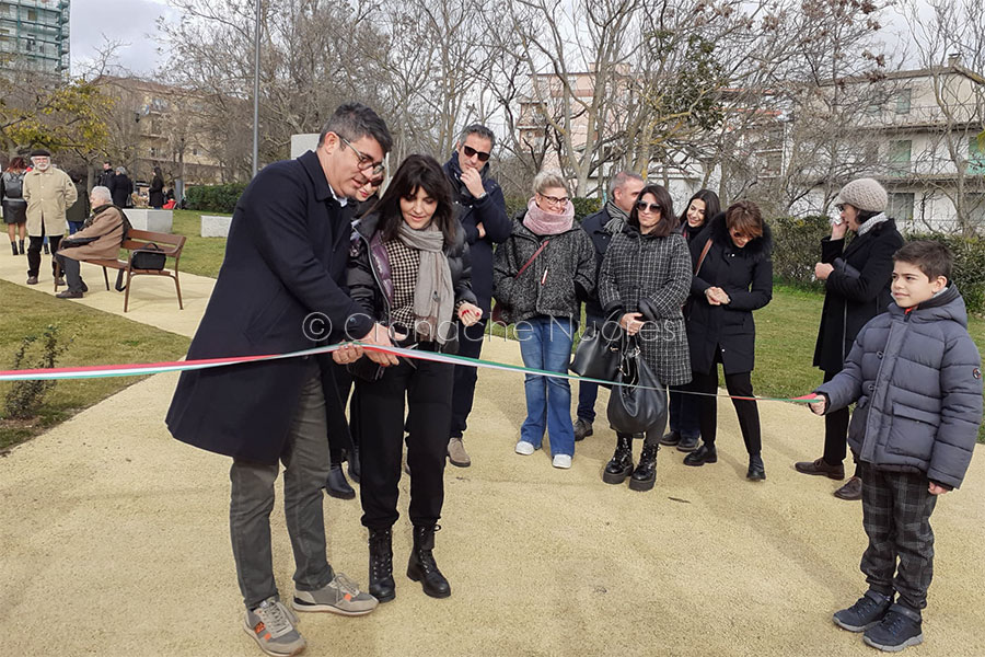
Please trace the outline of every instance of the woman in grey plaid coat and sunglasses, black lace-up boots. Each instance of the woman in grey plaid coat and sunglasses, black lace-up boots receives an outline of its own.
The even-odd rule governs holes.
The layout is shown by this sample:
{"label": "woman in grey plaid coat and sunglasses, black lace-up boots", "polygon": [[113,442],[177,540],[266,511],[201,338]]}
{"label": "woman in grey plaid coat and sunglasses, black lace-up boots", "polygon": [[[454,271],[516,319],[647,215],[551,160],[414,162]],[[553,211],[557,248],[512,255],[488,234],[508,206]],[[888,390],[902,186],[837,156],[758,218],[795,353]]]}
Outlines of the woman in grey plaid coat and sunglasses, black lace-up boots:
{"label": "woman in grey plaid coat and sunglasses, black lace-up boots", "polygon": [[[644,187],[626,229],[605,253],[599,274],[599,300],[605,316],[629,335],[639,335],[644,360],[664,385],[691,381],[687,334],[681,307],[691,289],[687,241],[675,231],[677,219],[667,188]],[[665,394],[665,392],[663,393]],[[667,414],[647,430],[639,465],[633,470],[633,437],[616,434],[616,449],[602,481],[649,491],[657,480],[658,441]]]}

